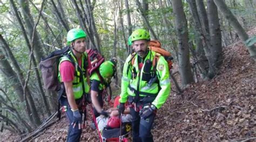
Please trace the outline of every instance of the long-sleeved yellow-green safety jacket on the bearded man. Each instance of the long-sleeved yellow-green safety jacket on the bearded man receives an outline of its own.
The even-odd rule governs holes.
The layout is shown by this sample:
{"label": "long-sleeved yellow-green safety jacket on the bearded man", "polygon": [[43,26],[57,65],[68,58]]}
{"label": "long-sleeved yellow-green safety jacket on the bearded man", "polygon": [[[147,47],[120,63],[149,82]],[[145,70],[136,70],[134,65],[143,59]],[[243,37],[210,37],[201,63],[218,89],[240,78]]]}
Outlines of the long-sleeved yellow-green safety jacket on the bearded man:
{"label": "long-sleeved yellow-green safety jacket on the bearded man", "polygon": [[[156,70],[154,67],[151,67],[151,74],[156,73],[158,81],[154,82],[151,86],[147,86],[148,82],[142,80],[143,70],[145,67],[146,60],[153,60],[156,52],[149,51],[144,59],[144,64],[142,69],[139,70],[138,66],[138,55],[130,54],[125,61],[123,76],[122,76],[122,88],[120,94],[120,103],[125,103],[128,96],[136,96],[136,93],[140,97],[153,96],[154,101],[152,104],[159,109],[167,100],[171,91],[171,82],[169,79],[170,73],[167,61],[163,56],[160,56],[156,65]],[[131,65],[132,58],[135,58],[133,65]],[[136,77],[133,78],[133,74],[136,74]]]}

